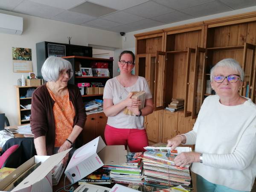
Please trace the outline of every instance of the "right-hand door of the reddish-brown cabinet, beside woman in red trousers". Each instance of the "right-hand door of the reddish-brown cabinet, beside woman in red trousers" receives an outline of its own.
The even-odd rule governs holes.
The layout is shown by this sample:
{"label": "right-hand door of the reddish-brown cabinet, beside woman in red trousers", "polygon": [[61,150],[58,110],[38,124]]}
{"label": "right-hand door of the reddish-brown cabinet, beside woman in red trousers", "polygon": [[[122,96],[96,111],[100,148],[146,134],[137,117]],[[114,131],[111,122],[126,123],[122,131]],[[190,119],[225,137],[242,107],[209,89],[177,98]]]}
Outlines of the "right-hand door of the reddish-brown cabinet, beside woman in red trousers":
{"label": "right-hand door of the reddish-brown cabinet, beside woman in red trousers", "polygon": [[105,116],[105,113],[96,113],[96,125],[95,125],[95,137],[101,136],[102,139],[105,141],[104,131],[105,126],[107,125],[108,117]]}

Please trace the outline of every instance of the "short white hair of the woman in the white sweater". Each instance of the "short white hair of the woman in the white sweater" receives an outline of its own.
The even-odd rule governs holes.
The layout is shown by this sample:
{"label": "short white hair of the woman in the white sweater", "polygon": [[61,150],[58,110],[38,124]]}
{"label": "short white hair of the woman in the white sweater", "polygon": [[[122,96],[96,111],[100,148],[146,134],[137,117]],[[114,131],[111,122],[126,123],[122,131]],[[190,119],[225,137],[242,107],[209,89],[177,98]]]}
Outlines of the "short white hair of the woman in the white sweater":
{"label": "short white hair of the woman in the white sweater", "polygon": [[[212,77],[213,77],[213,72],[217,67],[227,67],[234,71],[237,71],[239,73],[238,75],[240,76],[240,80],[244,81],[244,71],[243,71],[241,65],[239,64],[239,62],[237,62],[235,59],[226,58],[226,59],[219,61],[217,64],[215,64],[215,66],[212,67],[211,73],[210,73],[211,81],[212,81]],[[233,75],[235,75],[235,74],[233,74]]]}

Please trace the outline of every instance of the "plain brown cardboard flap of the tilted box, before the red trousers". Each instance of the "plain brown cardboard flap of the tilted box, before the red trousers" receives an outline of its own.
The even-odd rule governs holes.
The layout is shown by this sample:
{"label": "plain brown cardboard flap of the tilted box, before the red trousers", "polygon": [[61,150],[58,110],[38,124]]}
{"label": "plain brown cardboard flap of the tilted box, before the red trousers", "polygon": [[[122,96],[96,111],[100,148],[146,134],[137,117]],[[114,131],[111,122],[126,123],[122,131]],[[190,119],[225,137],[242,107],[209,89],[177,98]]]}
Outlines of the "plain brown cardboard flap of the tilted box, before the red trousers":
{"label": "plain brown cardboard flap of the tilted box, before the red trousers", "polygon": [[107,145],[98,155],[104,165],[121,165],[127,162],[125,145]]}

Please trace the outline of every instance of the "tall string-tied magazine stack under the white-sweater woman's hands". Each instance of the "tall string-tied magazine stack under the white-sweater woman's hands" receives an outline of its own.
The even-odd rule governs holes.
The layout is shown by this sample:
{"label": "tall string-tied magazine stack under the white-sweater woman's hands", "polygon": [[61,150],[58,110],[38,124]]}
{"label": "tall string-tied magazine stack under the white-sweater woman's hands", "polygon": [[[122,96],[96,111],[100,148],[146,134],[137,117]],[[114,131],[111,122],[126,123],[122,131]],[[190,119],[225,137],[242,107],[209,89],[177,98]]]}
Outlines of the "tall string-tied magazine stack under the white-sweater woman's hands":
{"label": "tall string-tied magazine stack under the white-sweater woman's hands", "polygon": [[174,158],[178,153],[192,151],[191,148],[181,147],[173,151],[167,147],[146,149],[148,150],[140,156],[143,159],[144,184],[161,188],[181,185],[186,190],[192,189],[189,165],[179,167],[174,164]]}

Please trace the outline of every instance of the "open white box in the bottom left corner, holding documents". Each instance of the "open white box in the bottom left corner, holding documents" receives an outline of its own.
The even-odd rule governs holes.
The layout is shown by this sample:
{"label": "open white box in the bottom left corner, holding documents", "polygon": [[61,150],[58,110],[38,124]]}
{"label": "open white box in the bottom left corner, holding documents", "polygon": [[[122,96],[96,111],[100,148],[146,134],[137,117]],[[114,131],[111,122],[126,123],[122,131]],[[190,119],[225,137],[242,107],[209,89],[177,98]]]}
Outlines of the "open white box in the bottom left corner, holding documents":
{"label": "open white box in the bottom left corner, holding documents", "polygon": [[29,176],[18,184],[11,192],[52,192],[52,173],[51,170],[55,165],[61,162],[66,154],[71,150],[62,151],[52,156],[37,156],[27,160],[7,177],[0,182],[0,191],[3,191],[8,184],[17,179],[25,170],[34,163],[42,162]]}

